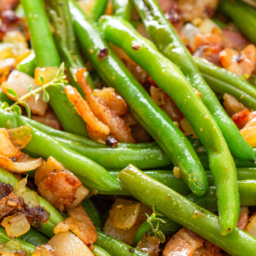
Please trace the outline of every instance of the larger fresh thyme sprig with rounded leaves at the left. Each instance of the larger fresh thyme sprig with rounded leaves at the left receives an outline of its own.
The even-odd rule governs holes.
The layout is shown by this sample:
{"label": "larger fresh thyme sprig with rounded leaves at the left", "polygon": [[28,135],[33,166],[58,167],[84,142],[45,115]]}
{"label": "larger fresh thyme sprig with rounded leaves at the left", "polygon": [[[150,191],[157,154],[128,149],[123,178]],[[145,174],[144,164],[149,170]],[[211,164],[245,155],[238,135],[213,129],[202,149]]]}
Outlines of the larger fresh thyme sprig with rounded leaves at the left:
{"label": "larger fresh thyme sprig with rounded leaves at the left", "polygon": [[62,62],[58,69],[58,72],[57,72],[56,76],[53,78],[53,80],[50,80],[48,83],[44,84],[45,79],[43,76],[40,76],[39,80],[41,81],[41,83],[43,85],[38,87],[35,90],[33,90],[31,85],[28,86],[27,87],[28,93],[19,99],[17,97],[16,91],[14,91],[13,89],[7,88],[7,95],[16,98],[17,101],[14,102],[11,106],[9,106],[9,104],[7,102],[3,102],[1,105],[1,108],[4,109],[6,112],[13,111],[17,115],[21,115],[21,108],[20,108],[19,104],[22,104],[22,105],[24,105],[24,107],[27,111],[27,116],[30,117],[31,116],[30,108],[29,108],[27,102],[24,100],[26,100],[31,95],[34,95],[35,100],[37,102],[39,99],[39,91],[43,91],[44,92],[43,93],[43,101],[48,102],[49,95],[48,95],[47,89],[50,86],[55,86],[55,87],[59,88],[59,90],[64,91],[64,86],[67,84],[66,75],[65,75],[64,70],[65,70],[65,65],[64,65],[64,62]]}

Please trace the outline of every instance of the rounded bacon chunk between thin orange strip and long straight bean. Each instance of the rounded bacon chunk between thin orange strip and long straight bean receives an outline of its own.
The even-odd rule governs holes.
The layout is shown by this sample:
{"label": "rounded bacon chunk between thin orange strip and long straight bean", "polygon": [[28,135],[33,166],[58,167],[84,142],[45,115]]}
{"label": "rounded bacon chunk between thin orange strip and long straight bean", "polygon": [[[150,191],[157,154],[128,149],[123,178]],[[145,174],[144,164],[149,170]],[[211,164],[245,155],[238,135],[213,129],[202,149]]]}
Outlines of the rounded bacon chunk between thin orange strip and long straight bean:
{"label": "rounded bacon chunk between thin orange strip and long straight bean", "polygon": [[128,111],[127,103],[117,94],[112,87],[102,88],[101,90],[93,90],[93,95],[100,98],[111,109],[112,112],[118,115],[124,115]]}

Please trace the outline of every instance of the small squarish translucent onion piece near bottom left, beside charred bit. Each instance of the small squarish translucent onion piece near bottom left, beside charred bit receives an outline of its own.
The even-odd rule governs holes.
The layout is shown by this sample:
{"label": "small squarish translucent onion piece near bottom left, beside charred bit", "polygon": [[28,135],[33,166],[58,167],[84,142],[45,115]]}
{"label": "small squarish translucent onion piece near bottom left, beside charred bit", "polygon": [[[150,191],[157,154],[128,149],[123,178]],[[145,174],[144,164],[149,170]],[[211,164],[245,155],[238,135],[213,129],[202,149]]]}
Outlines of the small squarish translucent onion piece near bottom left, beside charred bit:
{"label": "small squarish translucent onion piece near bottom left, beside charred bit", "polygon": [[27,233],[30,225],[24,213],[16,213],[13,216],[6,217],[1,225],[5,228],[9,239],[15,239]]}

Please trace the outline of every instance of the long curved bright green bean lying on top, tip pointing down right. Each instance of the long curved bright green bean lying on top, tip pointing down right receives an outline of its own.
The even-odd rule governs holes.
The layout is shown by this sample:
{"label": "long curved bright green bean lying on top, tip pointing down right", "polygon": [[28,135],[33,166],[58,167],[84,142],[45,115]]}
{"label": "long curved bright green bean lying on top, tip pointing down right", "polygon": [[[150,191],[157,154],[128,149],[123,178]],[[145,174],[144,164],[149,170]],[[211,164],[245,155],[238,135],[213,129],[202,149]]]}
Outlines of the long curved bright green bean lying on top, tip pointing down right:
{"label": "long curved bright green bean lying on top, tip pointing down right", "polygon": [[228,235],[235,229],[239,218],[239,191],[235,164],[218,124],[176,65],[160,54],[155,45],[142,37],[132,25],[116,17],[104,16],[101,28],[106,39],[123,48],[172,97],[195,129],[208,152],[210,170],[218,189],[221,234]]}

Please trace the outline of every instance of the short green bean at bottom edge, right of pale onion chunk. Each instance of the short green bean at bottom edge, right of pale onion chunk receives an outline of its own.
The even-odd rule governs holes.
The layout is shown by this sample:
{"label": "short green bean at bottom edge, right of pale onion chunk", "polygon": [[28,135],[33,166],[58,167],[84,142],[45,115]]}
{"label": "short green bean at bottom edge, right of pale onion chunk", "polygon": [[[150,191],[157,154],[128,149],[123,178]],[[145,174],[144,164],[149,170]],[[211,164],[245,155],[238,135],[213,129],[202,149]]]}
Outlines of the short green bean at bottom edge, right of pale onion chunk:
{"label": "short green bean at bottom edge, right of pale onion chunk", "polygon": [[112,256],[146,256],[147,254],[135,250],[132,246],[125,244],[123,241],[115,240],[112,237],[98,232],[98,239],[95,244],[103,250],[108,251]]}

